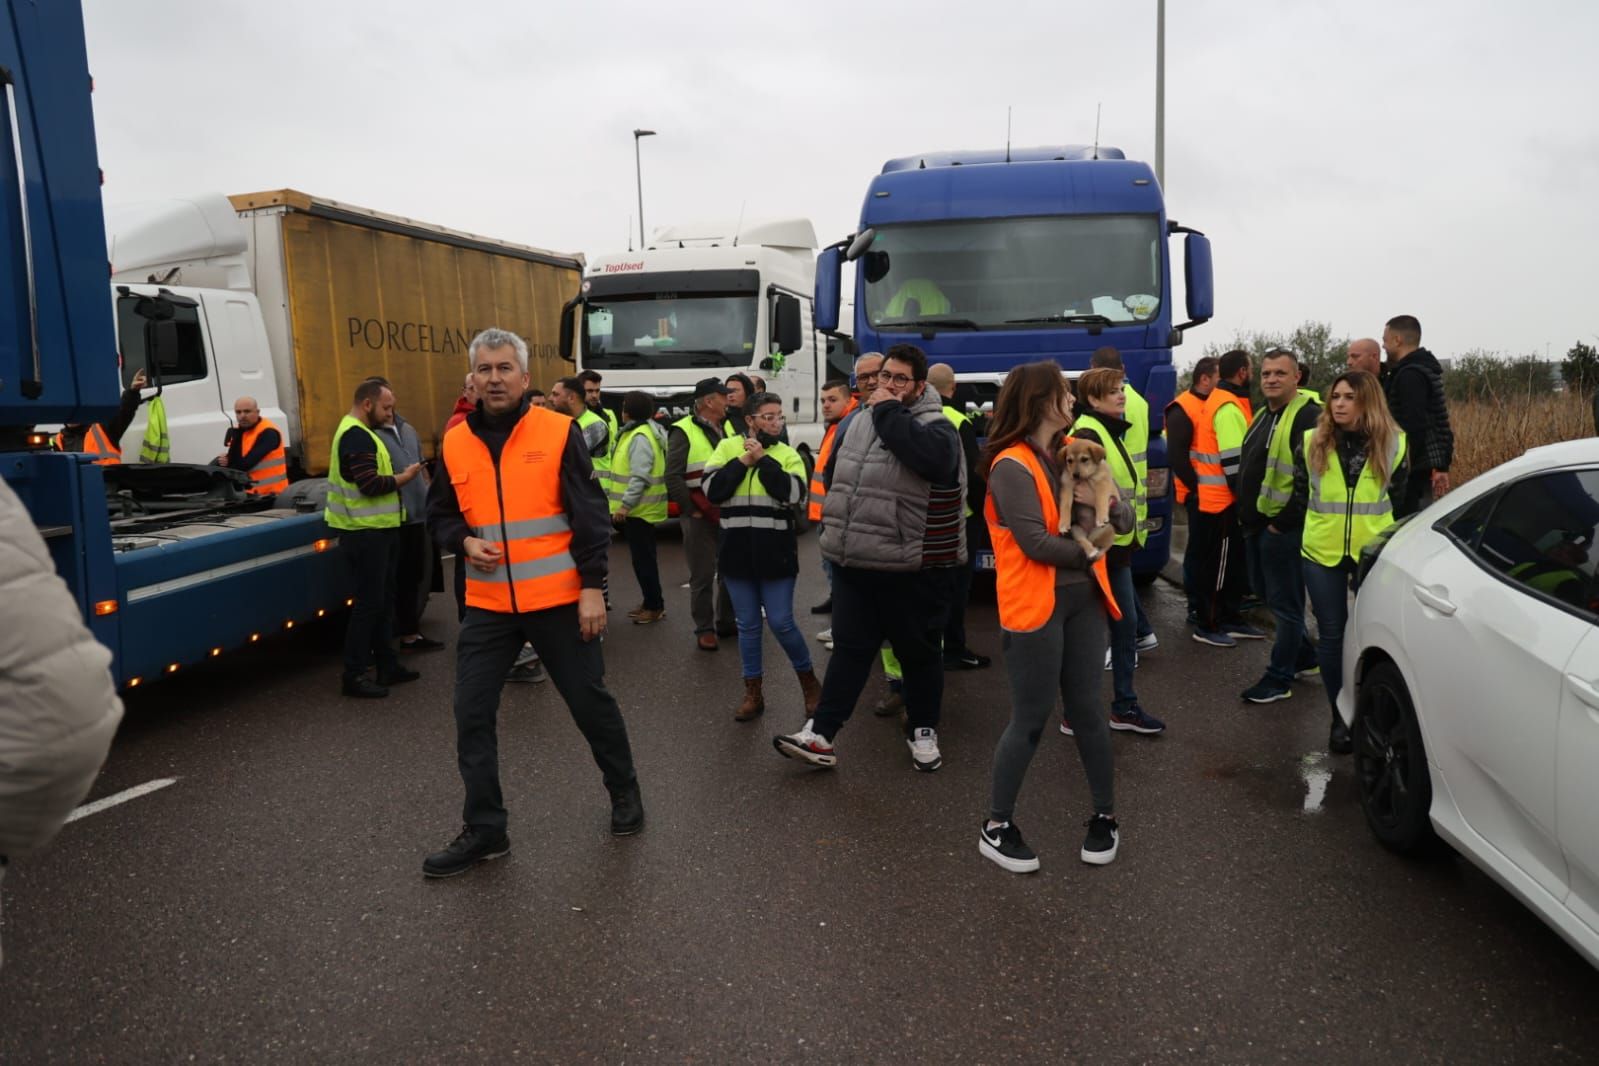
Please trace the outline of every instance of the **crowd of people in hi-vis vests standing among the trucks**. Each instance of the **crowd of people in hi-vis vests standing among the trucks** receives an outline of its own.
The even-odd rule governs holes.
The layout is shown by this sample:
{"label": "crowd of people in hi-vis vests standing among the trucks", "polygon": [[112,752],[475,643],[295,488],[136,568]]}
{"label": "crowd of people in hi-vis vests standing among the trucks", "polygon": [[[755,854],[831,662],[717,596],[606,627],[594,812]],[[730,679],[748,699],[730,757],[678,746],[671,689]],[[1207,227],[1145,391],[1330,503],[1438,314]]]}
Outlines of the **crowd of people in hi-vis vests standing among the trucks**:
{"label": "crowd of people in hi-vis vests standing among the trucks", "polygon": [[[1414,318],[1390,320],[1380,342],[1348,347],[1348,369],[1321,393],[1308,387],[1295,352],[1273,348],[1258,364],[1258,411],[1249,352],[1202,358],[1164,412],[1172,489],[1190,534],[1191,638],[1215,649],[1266,639],[1246,619],[1252,601],[1274,620],[1265,674],[1241,692],[1246,702],[1290,698],[1297,679],[1319,674],[1335,706],[1362,547],[1449,487],[1441,369],[1420,339]],[[673,515],[696,647],[715,652],[737,634],[744,690],[734,718],[766,710],[769,628],[804,716],[772,738],[774,748],[817,767],[838,766],[839,734],[879,658],[891,692],[878,713],[900,716],[915,770],[942,766],[945,671],[990,665],[967,646],[964,626],[972,545],[990,542],[1011,721],[993,753],[979,849],[1004,869],[1038,869],[1015,807],[1059,700],[1060,732],[1076,742],[1092,798],[1081,858],[1115,860],[1121,826],[1110,732],[1166,730],[1134,686],[1140,652],[1159,646],[1132,575],[1151,529],[1150,409],[1115,348],[1095,352],[1075,384],[1055,363],[1012,369],[980,451],[948,366],[929,366],[908,344],[865,353],[852,382],[830,380],[820,392],[827,432],[812,470],[787,441],[784,400],[750,376],[700,380],[692,412],[665,424],[644,392],[625,393],[619,417],[601,403],[593,371],[560,379],[548,395],[531,388],[526,344],[512,332],[483,331],[470,355],[432,471],[416,430],[395,411],[392,385],[373,377],[334,433],[328,473],[326,521],[355,579],[345,695],[381,698],[419,678],[401,655],[445,646],[421,631],[422,606],[438,551],[457,561],[462,831],[427,857],[425,874],[464,873],[508,850],[497,766],[505,681],[555,682],[609,790],[612,831],[643,826],[627,727],[604,687],[596,638],[611,612],[616,531],[640,596],[627,619],[665,617],[656,532]],[[138,382],[131,392],[138,396]],[[235,414],[217,465],[278,478],[277,427],[249,398]],[[1095,503],[1091,486],[1062,467],[1070,441],[1092,444],[1111,478],[1103,548],[1068,535],[1065,502],[1068,511]],[[819,634],[831,650],[820,678],[795,620],[801,516],[820,524],[828,587],[812,607],[831,622]],[[1111,674],[1108,703],[1103,673]],[[1329,750],[1348,753],[1350,745],[1334,710]]]}

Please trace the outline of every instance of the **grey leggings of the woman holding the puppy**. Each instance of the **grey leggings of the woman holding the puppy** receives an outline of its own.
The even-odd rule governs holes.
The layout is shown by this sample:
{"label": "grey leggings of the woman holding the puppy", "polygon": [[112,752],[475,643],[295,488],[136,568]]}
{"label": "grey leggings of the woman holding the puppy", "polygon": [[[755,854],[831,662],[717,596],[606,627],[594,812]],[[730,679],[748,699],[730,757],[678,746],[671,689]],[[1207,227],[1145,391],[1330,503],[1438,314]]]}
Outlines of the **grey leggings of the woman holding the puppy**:
{"label": "grey leggings of the woman holding the puppy", "polygon": [[1100,687],[1105,678],[1105,607],[1087,582],[1055,590],[1055,614],[1031,633],[1004,633],[1004,668],[1011,678],[1011,724],[995,748],[988,817],[1009,821],[1022,778],[1038,751],[1059,695],[1076,734],[1078,758],[1089,778],[1095,813],[1113,813],[1115,766]]}

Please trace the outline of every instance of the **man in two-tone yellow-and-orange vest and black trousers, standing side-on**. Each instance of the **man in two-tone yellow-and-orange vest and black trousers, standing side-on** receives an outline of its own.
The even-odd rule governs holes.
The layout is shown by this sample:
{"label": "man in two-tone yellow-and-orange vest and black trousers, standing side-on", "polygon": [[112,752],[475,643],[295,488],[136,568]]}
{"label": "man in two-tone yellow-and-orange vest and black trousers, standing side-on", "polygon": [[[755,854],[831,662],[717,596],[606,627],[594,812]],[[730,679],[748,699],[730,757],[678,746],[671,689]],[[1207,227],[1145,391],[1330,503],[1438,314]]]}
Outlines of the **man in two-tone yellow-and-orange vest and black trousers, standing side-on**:
{"label": "man in two-tone yellow-and-orange vest and black trousers, standing side-on", "polygon": [[1234,348],[1217,361],[1220,380],[1206,396],[1194,420],[1188,459],[1194,468],[1194,524],[1188,551],[1194,555],[1194,588],[1199,623],[1193,638],[1212,647],[1236,647],[1238,641],[1263,641],[1265,633],[1242,619],[1249,567],[1238,526],[1238,463],[1252,417],[1249,352]]}

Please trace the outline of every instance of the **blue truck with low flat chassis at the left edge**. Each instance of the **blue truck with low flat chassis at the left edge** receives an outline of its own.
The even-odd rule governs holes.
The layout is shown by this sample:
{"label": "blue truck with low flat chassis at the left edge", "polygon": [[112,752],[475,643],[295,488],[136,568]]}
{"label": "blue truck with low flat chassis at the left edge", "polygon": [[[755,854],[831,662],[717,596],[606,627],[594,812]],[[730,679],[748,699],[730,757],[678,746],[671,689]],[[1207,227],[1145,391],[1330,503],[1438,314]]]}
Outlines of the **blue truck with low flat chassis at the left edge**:
{"label": "blue truck with low flat chassis at the left edge", "polygon": [[[243,499],[238,471],[96,465],[38,430],[109,422],[122,393],[90,91],[80,5],[6,0],[0,476],[131,687],[339,611],[349,579],[320,511]],[[171,313],[150,299],[146,328]]]}

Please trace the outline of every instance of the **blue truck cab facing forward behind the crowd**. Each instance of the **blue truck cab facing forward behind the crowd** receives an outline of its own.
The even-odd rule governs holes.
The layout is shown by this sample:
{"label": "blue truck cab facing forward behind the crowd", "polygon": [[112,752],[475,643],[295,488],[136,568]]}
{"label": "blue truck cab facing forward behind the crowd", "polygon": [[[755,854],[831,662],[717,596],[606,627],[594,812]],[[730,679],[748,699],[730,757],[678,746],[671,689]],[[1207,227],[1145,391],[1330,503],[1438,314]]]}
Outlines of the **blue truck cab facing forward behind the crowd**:
{"label": "blue truck cab facing forward behind the crowd", "polygon": [[[1183,235],[1185,321],[1172,312],[1169,240]],[[843,264],[854,262],[854,344],[915,344],[948,363],[956,400],[991,411],[1011,368],[1052,360],[1076,377],[1095,348],[1121,352],[1150,404],[1148,539],[1134,571],[1170,553],[1170,470],[1161,435],[1175,398],[1172,347],[1212,316],[1209,240],[1166,216],[1148,165],[1110,147],[932,152],[889,160],[857,232],[822,251],[815,323],[838,331]],[[977,551],[979,569],[993,558]]]}

